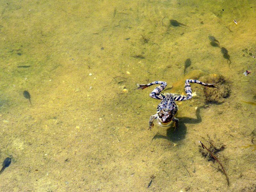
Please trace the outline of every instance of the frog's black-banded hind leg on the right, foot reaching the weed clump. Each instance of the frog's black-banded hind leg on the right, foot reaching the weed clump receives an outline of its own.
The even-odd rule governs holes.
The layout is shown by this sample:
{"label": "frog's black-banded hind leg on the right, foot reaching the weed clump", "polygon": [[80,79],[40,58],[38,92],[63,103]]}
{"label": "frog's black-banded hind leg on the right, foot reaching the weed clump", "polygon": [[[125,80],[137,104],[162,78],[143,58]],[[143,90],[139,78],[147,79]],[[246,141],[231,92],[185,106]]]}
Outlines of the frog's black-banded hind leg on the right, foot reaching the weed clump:
{"label": "frog's black-banded hind leg on the right, foot reaching the weed clump", "polygon": [[187,79],[186,82],[185,82],[185,91],[187,93],[187,96],[180,95],[180,94],[173,94],[172,93],[173,99],[175,101],[185,101],[185,100],[192,99],[192,89],[191,89],[191,86],[190,86],[189,83],[197,83],[197,84],[201,84],[201,85],[204,85],[204,86],[207,86],[207,87],[214,87],[214,88],[216,88],[214,86],[214,84],[203,83],[203,82],[195,80],[195,79]]}

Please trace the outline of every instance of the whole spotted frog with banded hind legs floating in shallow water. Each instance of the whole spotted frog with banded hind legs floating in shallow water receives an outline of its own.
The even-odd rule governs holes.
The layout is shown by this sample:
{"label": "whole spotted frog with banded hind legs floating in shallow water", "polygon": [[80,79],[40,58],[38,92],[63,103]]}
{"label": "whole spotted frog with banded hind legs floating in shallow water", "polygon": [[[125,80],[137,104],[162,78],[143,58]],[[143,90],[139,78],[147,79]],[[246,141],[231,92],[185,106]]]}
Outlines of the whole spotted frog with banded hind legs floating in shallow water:
{"label": "whole spotted frog with banded hind legs floating in shallow water", "polygon": [[[201,81],[197,81],[194,79],[187,79],[185,81],[185,91],[187,93],[187,96],[180,95],[176,93],[160,93],[163,91],[167,85],[164,81],[154,81],[149,84],[138,84],[139,87],[136,89],[145,89],[151,85],[159,84],[150,94],[149,96],[153,99],[159,99],[161,102],[157,106],[157,111],[155,115],[150,116],[149,118],[149,128],[151,131],[151,128],[154,126],[153,121],[157,118],[159,123],[162,125],[169,125],[172,121],[174,121],[174,127],[177,128],[179,124],[179,119],[177,119],[175,116],[176,112],[178,111],[178,106],[175,103],[175,101],[185,101],[192,99],[192,90],[189,83],[197,83],[201,84],[207,87],[215,87],[214,84],[206,84]],[[216,87],[215,87],[216,88]]]}

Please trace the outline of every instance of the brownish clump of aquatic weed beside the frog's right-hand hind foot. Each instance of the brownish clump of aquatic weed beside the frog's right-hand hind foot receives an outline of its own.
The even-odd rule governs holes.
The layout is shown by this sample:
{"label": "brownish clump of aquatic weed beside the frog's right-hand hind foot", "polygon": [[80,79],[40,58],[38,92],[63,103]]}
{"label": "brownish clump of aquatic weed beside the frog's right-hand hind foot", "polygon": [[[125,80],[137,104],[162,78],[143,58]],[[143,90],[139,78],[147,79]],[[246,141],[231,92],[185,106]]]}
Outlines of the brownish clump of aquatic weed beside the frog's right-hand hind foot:
{"label": "brownish clump of aquatic weed beside the frog's right-hand hind foot", "polygon": [[206,77],[206,82],[214,83],[215,89],[204,87],[204,95],[206,102],[222,103],[231,93],[231,82],[224,76]]}

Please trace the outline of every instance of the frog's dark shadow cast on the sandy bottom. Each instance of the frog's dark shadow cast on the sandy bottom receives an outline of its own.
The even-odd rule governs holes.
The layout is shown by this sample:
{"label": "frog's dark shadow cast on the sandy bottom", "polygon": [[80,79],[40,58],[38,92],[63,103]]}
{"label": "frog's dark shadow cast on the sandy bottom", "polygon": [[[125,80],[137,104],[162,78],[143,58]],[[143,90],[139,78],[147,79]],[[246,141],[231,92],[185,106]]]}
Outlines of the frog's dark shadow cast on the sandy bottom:
{"label": "frog's dark shadow cast on the sandy bottom", "polygon": [[202,122],[202,118],[200,116],[201,108],[204,108],[204,106],[196,109],[196,118],[179,117],[179,126],[177,129],[174,130],[174,127],[171,126],[166,130],[166,135],[156,134],[154,140],[157,138],[162,138],[172,142],[178,142],[185,139],[185,135],[187,133],[187,126],[185,124],[197,124]]}

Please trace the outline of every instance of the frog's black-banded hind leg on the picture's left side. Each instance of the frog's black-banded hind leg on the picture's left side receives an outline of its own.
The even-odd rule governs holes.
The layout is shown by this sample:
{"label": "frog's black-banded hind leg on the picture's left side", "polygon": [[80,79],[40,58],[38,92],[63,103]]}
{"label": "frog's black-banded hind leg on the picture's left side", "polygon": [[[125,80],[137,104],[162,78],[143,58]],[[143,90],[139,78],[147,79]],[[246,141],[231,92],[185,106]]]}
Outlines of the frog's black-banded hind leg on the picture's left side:
{"label": "frog's black-banded hind leg on the picture's left side", "polygon": [[165,98],[164,93],[160,93],[160,92],[163,91],[164,88],[167,86],[167,83],[164,81],[154,81],[149,84],[138,84],[139,87],[135,88],[135,89],[143,90],[143,89],[145,89],[149,86],[155,85],[155,84],[159,84],[159,85],[149,94],[149,97],[151,97],[153,99],[163,100]]}

